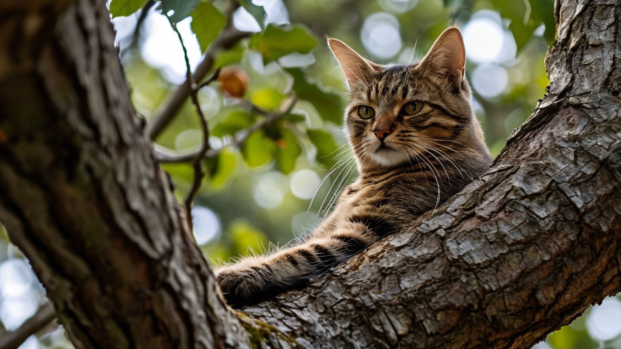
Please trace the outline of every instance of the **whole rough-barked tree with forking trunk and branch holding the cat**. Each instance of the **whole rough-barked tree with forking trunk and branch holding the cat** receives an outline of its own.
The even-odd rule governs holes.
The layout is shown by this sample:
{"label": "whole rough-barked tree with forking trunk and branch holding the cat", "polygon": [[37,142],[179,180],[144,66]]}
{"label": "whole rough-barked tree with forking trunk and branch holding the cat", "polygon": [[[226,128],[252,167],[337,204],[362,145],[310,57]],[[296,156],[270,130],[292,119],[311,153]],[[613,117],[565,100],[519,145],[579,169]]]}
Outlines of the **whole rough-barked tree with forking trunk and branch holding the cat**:
{"label": "whole rough-barked tree with forking trunk and branch holding the cat", "polygon": [[614,1],[556,2],[548,96],[486,174],[306,289],[240,312],[142,136],[104,4],[0,10],[0,220],[78,348],[523,348],[621,291]]}

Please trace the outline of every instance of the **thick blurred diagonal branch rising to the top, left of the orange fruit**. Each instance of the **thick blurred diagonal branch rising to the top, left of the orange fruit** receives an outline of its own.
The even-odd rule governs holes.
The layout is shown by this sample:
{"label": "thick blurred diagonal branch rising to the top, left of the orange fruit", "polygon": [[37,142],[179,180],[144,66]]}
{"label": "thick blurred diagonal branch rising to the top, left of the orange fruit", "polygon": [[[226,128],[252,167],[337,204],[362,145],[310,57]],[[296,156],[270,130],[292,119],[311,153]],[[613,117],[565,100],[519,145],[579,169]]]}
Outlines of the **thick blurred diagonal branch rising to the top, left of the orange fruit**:
{"label": "thick blurred diagonal branch rising to the top, left of the orange fruit", "polygon": [[211,70],[215,61],[215,54],[220,50],[226,50],[233,47],[236,43],[245,37],[252,35],[251,32],[242,32],[233,27],[232,15],[239,6],[237,1],[232,1],[226,15],[228,23],[217,38],[207,47],[205,57],[194,70],[192,80],[187,79],[185,83],[179,86],[168,101],[162,104],[153,114],[152,120],[147,124],[145,134],[148,138],[155,139],[166,128],[166,126],[175,119],[177,112],[183,106],[183,102],[190,96],[190,81],[201,81],[205,75]]}

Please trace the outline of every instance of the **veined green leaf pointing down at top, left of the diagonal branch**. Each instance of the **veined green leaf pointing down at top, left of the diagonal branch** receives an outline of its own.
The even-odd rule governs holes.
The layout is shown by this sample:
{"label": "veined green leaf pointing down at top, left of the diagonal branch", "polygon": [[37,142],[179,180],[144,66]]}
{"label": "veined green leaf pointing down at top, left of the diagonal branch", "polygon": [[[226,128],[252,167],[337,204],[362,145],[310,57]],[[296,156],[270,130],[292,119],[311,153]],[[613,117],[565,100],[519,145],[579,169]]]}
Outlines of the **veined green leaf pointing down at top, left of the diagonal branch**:
{"label": "veined green leaf pointing down at top, left of the diagonal branch", "polygon": [[209,44],[220,34],[227,24],[227,16],[211,2],[201,1],[192,12],[192,31],[196,34],[201,52],[205,52]]}

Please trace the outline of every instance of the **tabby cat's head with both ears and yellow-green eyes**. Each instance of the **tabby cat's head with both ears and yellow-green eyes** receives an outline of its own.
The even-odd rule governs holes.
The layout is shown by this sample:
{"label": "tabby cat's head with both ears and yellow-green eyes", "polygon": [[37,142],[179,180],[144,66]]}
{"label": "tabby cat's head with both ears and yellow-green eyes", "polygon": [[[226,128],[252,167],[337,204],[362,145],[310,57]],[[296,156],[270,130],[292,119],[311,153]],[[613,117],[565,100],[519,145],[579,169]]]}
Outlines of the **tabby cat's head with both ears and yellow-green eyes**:
{"label": "tabby cat's head with both ears and yellow-green eyes", "polygon": [[378,65],[337,39],[328,44],[350,88],[345,129],[359,170],[409,165],[430,152],[442,156],[443,147],[482,143],[456,27],[410,65]]}

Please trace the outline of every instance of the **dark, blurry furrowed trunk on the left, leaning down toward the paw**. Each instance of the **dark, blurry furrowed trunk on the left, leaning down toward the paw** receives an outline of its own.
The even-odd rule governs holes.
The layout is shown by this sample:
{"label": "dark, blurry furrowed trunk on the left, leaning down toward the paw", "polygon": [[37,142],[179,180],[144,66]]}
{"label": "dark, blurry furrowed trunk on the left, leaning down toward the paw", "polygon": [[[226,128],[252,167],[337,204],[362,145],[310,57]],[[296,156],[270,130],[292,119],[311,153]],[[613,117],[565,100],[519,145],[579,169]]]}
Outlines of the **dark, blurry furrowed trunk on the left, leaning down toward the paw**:
{"label": "dark, blurry furrowed trunk on the left, leaning down toward the paw", "polygon": [[247,342],[135,117],[104,1],[0,4],[0,220],[78,348]]}

